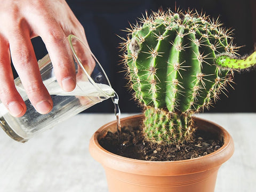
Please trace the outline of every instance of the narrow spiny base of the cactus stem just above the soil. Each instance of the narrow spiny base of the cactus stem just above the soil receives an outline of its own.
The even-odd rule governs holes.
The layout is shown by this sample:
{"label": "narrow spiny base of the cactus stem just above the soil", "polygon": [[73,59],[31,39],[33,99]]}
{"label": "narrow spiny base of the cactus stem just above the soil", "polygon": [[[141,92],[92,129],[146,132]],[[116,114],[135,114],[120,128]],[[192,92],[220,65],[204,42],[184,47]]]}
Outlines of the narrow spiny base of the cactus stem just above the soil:
{"label": "narrow spiny base of the cactus stem just above the soil", "polygon": [[194,123],[189,113],[172,113],[166,109],[148,107],[143,127],[147,140],[156,143],[180,143],[191,139]]}

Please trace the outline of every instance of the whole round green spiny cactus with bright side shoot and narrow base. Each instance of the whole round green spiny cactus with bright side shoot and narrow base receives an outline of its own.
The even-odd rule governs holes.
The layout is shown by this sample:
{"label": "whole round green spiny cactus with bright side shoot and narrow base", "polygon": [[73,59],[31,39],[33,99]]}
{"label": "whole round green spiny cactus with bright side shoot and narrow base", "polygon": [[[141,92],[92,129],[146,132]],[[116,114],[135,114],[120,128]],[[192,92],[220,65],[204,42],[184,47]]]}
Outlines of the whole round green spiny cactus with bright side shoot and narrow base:
{"label": "whole round green spiny cactus with bright side shoot and narrow base", "polygon": [[253,66],[256,52],[238,59],[231,31],[196,11],[159,10],[140,20],[121,45],[134,97],[145,108],[145,137],[180,145],[195,129],[191,116],[219,99],[234,70]]}

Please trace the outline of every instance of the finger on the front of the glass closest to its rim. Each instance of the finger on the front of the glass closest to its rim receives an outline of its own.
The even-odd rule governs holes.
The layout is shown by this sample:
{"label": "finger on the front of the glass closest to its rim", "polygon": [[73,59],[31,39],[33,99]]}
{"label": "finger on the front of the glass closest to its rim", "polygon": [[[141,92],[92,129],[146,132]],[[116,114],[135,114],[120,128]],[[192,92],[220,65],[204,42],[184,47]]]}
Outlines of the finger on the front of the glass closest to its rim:
{"label": "finger on the front of the glass closest to its rim", "polygon": [[73,91],[76,87],[76,71],[68,39],[55,20],[44,26],[38,35],[50,55],[57,81],[64,91]]}

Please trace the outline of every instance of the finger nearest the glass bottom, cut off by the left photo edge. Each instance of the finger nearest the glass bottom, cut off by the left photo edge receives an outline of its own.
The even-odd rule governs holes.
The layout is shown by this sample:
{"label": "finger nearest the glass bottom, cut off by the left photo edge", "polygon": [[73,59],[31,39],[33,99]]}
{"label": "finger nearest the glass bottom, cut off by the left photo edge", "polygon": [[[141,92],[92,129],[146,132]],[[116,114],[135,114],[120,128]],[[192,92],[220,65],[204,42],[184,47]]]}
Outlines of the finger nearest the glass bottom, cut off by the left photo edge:
{"label": "finger nearest the glass bottom, cut off by the left photo edge", "polygon": [[14,117],[21,117],[26,112],[26,105],[15,88],[9,44],[0,36],[0,99],[10,114]]}

